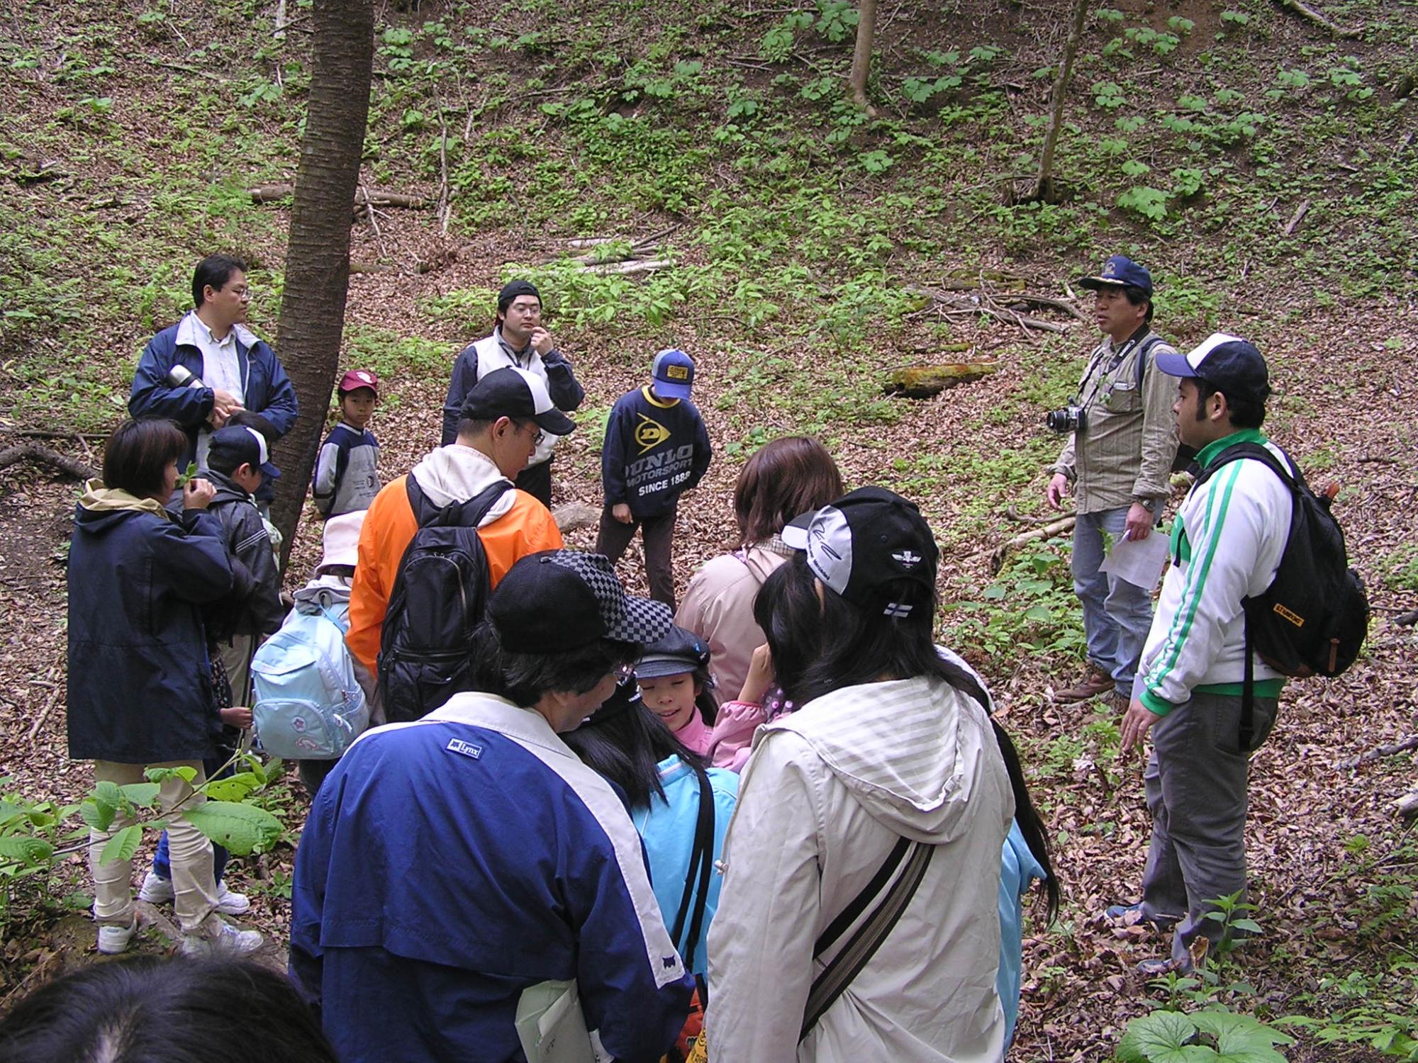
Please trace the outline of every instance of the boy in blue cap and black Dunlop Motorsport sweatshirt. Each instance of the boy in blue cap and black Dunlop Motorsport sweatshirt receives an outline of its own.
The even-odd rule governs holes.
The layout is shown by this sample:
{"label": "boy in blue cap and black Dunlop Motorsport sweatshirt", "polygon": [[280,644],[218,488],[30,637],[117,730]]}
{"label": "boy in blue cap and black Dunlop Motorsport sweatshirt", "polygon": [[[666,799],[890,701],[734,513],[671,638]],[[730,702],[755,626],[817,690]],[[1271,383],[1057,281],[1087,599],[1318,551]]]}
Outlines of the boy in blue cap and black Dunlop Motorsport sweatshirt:
{"label": "boy in blue cap and black Dunlop Motorsport sweatshirt", "polygon": [[642,529],[649,597],[675,608],[671,551],[676,507],[679,496],[705,475],[712,452],[703,418],[689,401],[693,360],[682,350],[662,350],[649,376],[649,384],[615,401],[605,422],[605,507],[596,553],[618,561],[635,529]]}

